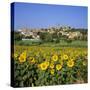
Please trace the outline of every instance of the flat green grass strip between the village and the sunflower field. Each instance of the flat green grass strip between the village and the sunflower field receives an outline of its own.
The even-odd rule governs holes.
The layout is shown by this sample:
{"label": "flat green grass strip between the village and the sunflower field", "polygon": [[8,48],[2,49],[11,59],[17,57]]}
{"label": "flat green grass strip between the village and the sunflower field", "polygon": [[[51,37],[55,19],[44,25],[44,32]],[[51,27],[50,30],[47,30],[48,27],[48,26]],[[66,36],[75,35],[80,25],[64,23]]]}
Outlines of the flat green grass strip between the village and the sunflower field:
{"label": "flat green grass strip between the village and the sunflower field", "polygon": [[15,45],[25,45],[25,46],[45,46],[45,47],[87,47],[87,41],[74,40],[71,43],[66,41],[60,41],[59,43],[55,42],[41,42],[41,41],[15,41]]}

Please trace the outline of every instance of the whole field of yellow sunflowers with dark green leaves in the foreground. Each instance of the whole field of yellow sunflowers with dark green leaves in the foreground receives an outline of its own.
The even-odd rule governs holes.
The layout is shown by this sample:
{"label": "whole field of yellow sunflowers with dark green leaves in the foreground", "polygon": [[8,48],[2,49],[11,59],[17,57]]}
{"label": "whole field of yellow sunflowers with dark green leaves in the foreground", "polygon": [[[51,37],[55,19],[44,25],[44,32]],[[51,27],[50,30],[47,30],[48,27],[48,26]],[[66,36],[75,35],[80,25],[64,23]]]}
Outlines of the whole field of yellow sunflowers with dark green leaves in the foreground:
{"label": "whole field of yellow sunflowers with dark green leaves in the foreground", "polygon": [[16,87],[87,83],[87,48],[14,46]]}

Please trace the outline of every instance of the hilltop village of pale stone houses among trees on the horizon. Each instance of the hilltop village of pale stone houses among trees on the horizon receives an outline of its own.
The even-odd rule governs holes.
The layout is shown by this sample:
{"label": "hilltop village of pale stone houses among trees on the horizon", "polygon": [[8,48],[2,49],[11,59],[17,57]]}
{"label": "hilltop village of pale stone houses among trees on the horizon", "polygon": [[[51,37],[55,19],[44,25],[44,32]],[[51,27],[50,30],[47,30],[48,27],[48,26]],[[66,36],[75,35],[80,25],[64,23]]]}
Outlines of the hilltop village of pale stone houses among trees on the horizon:
{"label": "hilltop village of pale stone houses among trees on the horizon", "polygon": [[[84,29],[75,29],[69,26],[65,27],[51,27],[51,28],[41,28],[41,29],[27,29],[22,28],[18,29],[17,32],[22,36],[22,40],[33,40],[33,39],[41,39],[46,36],[48,38],[67,38],[67,39],[86,39],[87,38],[87,30]],[[42,35],[43,34],[43,35]]]}

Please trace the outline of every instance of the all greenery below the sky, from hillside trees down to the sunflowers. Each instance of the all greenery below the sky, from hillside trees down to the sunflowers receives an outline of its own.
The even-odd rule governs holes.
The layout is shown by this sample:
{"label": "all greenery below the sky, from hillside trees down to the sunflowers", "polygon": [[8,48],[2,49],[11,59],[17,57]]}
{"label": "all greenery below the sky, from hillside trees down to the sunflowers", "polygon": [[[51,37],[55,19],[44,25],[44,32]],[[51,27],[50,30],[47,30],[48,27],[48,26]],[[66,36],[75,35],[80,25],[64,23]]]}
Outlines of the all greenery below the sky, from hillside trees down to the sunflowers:
{"label": "all greenery below the sky, from hillside trees down to the sunflowers", "polygon": [[87,83],[87,30],[70,29],[71,34],[82,33],[74,38],[60,30],[45,29],[38,32],[39,39],[14,32],[15,87]]}

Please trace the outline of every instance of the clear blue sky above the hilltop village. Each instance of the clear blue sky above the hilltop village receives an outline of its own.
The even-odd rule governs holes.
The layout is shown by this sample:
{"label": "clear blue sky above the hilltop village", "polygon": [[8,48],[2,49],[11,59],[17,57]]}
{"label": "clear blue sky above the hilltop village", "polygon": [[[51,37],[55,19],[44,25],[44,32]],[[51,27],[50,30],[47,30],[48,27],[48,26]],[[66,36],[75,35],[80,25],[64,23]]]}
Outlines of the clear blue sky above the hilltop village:
{"label": "clear blue sky above the hilltop village", "polygon": [[47,28],[50,26],[71,26],[88,28],[88,8],[34,3],[14,4],[14,27]]}

